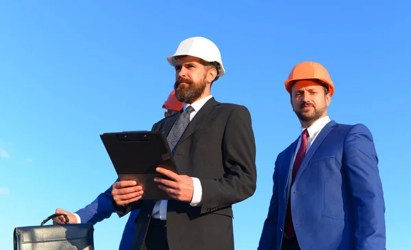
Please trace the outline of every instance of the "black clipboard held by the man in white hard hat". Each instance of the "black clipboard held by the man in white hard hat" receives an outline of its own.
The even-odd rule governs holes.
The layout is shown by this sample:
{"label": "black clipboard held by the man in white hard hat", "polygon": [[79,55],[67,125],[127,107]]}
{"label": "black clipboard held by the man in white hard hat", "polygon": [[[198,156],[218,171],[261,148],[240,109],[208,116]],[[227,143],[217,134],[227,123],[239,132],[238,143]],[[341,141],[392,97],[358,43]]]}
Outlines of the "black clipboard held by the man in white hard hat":
{"label": "black clipboard held by the man in white hard hat", "polygon": [[166,178],[155,171],[156,167],[178,173],[163,132],[127,131],[103,133],[100,137],[119,179],[135,180],[142,186],[141,199],[172,199],[153,180],[156,176]]}

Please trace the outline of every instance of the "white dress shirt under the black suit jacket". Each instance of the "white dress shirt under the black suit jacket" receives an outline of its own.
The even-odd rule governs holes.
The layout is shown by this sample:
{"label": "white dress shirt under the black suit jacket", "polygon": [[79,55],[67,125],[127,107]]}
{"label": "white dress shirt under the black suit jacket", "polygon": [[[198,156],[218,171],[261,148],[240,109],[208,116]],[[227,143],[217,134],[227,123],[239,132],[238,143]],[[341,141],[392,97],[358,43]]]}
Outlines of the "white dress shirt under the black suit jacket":
{"label": "white dress shirt under the black suit jacket", "polygon": [[[203,107],[203,105],[206,104],[208,100],[210,100],[212,96],[207,96],[205,98],[202,98],[200,100],[197,100],[196,102],[193,102],[191,105],[184,103],[184,110],[188,106],[191,106],[194,111],[190,113],[190,122],[192,121],[192,118],[195,117],[197,112]],[[201,182],[198,178],[192,177],[192,182],[193,182],[193,193],[192,193],[192,199],[190,202],[190,206],[201,206],[201,202],[203,201],[203,189],[201,187]],[[167,219],[167,200],[161,200],[155,203],[153,212],[151,212],[151,217],[154,219],[160,219],[160,220],[166,220]]]}

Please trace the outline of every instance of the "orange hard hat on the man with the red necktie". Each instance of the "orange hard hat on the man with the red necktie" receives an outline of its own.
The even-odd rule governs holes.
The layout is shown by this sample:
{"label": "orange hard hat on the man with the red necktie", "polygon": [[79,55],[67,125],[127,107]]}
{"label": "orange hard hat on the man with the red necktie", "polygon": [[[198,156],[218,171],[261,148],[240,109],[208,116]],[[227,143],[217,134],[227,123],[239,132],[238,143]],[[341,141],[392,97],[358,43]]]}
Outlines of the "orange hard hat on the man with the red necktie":
{"label": "orange hard hat on the man with the red necktie", "polygon": [[334,83],[328,71],[315,61],[303,61],[292,68],[288,80],[284,81],[288,93],[291,93],[292,83],[299,80],[319,80],[328,88],[331,96],[334,94]]}

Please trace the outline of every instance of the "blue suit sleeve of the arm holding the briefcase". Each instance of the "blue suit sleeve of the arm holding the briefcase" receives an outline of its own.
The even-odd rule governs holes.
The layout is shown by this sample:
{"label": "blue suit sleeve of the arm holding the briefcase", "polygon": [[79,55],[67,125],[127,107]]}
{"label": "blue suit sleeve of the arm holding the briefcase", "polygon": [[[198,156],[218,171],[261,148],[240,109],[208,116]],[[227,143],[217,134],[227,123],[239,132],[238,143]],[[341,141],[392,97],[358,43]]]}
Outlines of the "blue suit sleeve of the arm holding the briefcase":
{"label": "blue suit sleeve of the arm holding the briefcase", "polygon": [[[117,179],[118,180],[118,179]],[[104,193],[101,193],[97,198],[85,208],[75,212],[82,219],[82,223],[95,224],[103,221],[116,212],[112,206],[112,186]]]}

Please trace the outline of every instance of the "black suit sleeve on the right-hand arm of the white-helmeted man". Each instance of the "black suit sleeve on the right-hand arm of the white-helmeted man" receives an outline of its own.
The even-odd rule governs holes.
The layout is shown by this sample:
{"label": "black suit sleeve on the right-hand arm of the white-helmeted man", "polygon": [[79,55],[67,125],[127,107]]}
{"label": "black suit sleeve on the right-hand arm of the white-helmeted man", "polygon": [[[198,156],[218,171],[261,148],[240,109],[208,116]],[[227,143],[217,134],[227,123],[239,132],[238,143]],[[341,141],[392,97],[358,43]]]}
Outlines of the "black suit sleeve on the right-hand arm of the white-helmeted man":
{"label": "black suit sleeve on the right-hand arm of the white-helmeted man", "polygon": [[256,191],[256,142],[251,115],[246,107],[238,106],[229,115],[222,150],[225,176],[200,178],[203,189],[201,213],[231,206]]}

